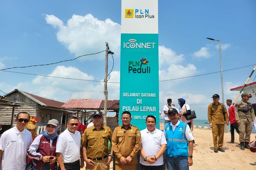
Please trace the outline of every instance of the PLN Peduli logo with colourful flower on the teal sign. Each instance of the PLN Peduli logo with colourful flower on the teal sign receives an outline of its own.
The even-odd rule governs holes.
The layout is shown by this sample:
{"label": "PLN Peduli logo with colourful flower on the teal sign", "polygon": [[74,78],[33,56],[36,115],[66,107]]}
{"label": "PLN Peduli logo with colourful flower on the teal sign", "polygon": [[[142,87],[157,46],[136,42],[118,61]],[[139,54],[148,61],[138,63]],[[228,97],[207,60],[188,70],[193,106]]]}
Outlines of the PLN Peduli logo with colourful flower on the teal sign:
{"label": "PLN Peduli logo with colourful flower on the teal sign", "polygon": [[[128,62],[128,73],[150,73],[150,66],[146,66],[148,63],[147,58],[142,57],[140,61]],[[144,68],[142,67],[144,66]]]}

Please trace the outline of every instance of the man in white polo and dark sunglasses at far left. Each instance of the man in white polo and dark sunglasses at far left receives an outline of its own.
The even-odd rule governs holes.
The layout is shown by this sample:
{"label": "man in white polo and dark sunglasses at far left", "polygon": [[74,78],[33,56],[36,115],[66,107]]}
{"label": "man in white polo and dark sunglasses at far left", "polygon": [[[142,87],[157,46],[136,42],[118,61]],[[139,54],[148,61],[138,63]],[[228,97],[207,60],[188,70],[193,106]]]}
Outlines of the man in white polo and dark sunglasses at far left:
{"label": "man in white polo and dark sunglasses at far left", "polygon": [[[27,149],[32,143],[31,133],[25,129],[29,114],[20,112],[16,116],[16,126],[5,131],[0,138],[0,170],[24,170]],[[2,164],[1,164],[2,163]]]}

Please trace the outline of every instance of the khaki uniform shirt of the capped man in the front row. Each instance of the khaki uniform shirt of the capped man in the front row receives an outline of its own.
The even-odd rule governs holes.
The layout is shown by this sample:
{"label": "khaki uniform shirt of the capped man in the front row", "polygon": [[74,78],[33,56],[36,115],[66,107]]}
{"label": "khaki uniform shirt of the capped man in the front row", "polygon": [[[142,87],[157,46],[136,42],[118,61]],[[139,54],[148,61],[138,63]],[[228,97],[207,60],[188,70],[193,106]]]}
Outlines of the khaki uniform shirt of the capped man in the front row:
{"label": "khaki uniform shirt of the capped man in the front row", "polygon": [[86,147],[88,158],[99,158],[109,155],[108,144],[112,131],[108,126],[101,126],[99,130],[93,125],[84,131],[82,146]]}

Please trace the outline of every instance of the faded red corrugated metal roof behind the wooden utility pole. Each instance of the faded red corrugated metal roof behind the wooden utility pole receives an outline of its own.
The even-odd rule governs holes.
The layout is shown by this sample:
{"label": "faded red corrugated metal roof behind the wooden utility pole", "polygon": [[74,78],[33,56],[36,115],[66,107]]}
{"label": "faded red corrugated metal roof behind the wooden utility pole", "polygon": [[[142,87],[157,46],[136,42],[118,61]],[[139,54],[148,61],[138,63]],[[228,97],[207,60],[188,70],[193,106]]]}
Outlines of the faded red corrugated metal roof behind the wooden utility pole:
{"label": "faded red corrugated metal roof behind the wooden utility pole", "polygon": [[[83,109],[104,109],[104,100],[99,99],[70,99],[62,107],[66,108],[83,108]],[[119,109],[119,100],[108,100],[107,109]]]}

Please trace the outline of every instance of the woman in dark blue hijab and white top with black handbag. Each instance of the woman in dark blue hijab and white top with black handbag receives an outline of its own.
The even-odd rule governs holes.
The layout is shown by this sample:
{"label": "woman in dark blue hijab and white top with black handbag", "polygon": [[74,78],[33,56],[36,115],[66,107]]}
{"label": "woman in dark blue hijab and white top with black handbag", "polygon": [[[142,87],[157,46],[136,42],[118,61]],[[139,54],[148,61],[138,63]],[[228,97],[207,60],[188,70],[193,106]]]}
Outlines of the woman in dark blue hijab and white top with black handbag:
{"label": "woman in dark blue hijab and white top with black handbag", "polygon": [[[178,104],[181,106],[180,109],[179,109],[179,112],[180,112],[180,116],[182,116],[182,121],[184,123],[187,123],[189,125],[189,128],[191,129],[191,131],[193,131],[193,120],[187,120],[185,116],[191,114],[191,109],[189,107],[188,104],[185,103],[186,100],[180,98],[178,99]],[[196,147],[196,144],[195,144],[195,140],[193,140],[194,142],[194,147]]]}

